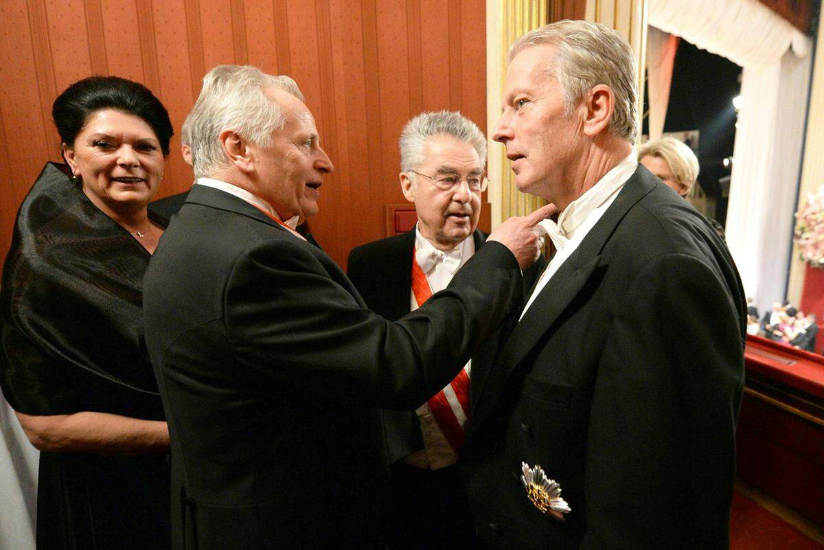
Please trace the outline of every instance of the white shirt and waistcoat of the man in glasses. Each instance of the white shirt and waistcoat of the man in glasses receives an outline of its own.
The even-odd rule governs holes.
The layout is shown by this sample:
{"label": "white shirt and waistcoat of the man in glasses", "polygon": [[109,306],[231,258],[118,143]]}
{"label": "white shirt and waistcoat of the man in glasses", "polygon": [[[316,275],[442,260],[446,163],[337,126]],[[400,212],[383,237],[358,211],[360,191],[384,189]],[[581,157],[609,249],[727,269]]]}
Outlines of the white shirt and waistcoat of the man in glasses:
{"label": "white shirt and waistcoat of the man in glasses", "polygon": [[[429,288],[432,289],[433,294],[446,288],[449,282],[452,281],[452,276],[455,272],[466,263],[466,260],[472,257],[472,254],[475,254],[475,240],[472,238],[472,235],[462,240],[450,253],[444,254],[420,234],[420,226],[415,227],[414,247],[417,251],[415,255],[418,257],[438,257],[435,261],[430,260],[429,262],[423,262],[424,265],[428,263],[431,266],[428,270],[424,269],[424,266],[421,266],[421,270],[424,271],[426,280],[429,282]],[[421,265],[421,263],[420,261],[418,262],[419,265]],[[411,290],[410,296],[411,310],[417,310],[418,301],[415,300],[414,292]],[[466,366],[464,366],[467,375],[470,374],[471,365],[472,361],[470,360],[466,363]],[[458,461],[458,455],[452,450],[452,446],[449,445],[446,436],[443,435],[441,426],[438,425],[435,417],[433,417],[429,405],[424,403],[415,413],[418,414],[421,435],[424,436],[424,449],[419,450],[417,453],[410,454],[410,456],[405,458],[405,462],[418,468],[432,468],[433,470],[455,464]]]}

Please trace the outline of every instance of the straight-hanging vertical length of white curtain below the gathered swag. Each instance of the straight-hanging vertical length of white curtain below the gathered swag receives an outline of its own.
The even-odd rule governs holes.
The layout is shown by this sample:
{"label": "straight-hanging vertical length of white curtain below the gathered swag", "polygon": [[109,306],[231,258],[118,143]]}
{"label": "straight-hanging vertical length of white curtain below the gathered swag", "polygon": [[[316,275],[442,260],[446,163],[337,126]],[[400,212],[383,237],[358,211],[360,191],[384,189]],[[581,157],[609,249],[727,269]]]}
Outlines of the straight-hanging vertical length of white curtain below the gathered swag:
{"label": "straight-hanging vertical length of white curtain below the gathered swag", "polygon": [[742,76],[727,243],[761,311],[784,298],[787,284],[810,63],[787,52]]}

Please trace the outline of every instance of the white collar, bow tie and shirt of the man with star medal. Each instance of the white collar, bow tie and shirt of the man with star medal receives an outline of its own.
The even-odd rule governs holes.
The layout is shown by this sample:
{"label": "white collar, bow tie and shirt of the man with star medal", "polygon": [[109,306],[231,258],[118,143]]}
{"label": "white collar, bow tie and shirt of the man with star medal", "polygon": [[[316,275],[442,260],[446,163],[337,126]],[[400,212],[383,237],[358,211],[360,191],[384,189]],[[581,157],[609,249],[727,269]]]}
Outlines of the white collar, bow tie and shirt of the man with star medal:
{"label": "white collar, bow tie and shirt of the man with star medal", "polygon": [[587,236],[592,227],[615,201],[620,190],[624,188],[626,180],[630,179],[630,176],[634,174],[637,168],[638,159],[635,158],[634,152],[631,152],[612,170],[606,172],[597,184],[593,185],[572,203],[569,203],[569,206],[564,208],[564,212],[559,214],[557,223],[552,220],[538,222],[538,227],[544,231],[545,235],[550,237],[552,244],[555,245],[555,256],[552,257],[544,273],[538,279],[535,290],[532,291],[527,305],[523,308],[521,319],[527,313],[532,302],[541,294],[546,283],[550,281],[566,259],[578,249],[578,245],[581,244],[583,238]]}

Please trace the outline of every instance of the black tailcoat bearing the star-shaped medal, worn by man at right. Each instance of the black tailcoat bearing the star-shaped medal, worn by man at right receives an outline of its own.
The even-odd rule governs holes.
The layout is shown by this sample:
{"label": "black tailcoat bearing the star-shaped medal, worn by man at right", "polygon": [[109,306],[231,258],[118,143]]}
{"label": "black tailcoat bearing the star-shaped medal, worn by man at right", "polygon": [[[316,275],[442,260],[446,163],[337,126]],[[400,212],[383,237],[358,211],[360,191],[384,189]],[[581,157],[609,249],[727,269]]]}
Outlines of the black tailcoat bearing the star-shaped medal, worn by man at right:
{"label": "black tailcoat bearing the star-shaped medal, worn by man at right", "polygon": [[[746,303],[709,222],[643,166],[472,366],[461,455],[486,548],[728,548]],[[522,462],[572,511],[533,506]]]}

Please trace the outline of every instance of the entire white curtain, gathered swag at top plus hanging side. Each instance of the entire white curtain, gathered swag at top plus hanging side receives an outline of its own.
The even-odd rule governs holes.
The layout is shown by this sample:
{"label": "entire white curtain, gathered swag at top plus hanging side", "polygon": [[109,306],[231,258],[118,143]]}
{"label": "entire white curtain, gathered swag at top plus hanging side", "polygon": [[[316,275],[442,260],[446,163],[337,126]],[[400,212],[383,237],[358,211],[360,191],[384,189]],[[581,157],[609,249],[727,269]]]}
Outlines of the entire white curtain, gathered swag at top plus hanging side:
{"label": "entire white curtain, gathered swag at top plus hanging side", "polygon": [[758,0],[649,0],[649,24],[743,68],[725,229],[764,310],[787,284],[812,43]]}

